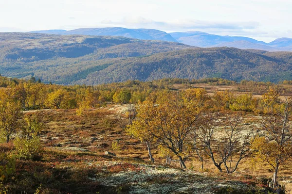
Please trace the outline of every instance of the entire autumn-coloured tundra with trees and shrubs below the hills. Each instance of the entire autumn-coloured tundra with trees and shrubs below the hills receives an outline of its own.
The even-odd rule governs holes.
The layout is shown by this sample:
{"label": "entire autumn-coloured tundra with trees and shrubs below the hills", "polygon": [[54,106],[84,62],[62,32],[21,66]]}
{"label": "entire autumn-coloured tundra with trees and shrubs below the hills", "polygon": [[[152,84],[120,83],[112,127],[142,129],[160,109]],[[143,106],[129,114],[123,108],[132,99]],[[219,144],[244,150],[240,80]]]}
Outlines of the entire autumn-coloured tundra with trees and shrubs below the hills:
{"label": "entire autumn-coloured tundra with trees and shrubs below the hills", "polygon": [[0,77],[0,193],[288,193],[289,83]]}

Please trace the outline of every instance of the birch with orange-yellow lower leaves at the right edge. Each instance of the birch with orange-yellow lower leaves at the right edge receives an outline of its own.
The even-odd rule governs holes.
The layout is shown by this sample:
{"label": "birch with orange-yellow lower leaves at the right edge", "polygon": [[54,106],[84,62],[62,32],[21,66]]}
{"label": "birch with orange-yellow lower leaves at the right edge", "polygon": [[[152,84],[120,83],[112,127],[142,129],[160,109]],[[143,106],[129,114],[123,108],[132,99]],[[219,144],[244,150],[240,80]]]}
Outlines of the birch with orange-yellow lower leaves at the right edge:
{"label": "birch with orange-yellow lower leaves at the right edge", "polygon": [[271,107],[271,103],[267,105],[271,112],[263,116],[261,124],[263,134],[253,141],[252,149],[256,161],[267,162],[273,168],[273,188],[275,188],[280,166],[292,158],[292,129],[289,125],[292,98],[286,97],[285,102],[279,106]]}

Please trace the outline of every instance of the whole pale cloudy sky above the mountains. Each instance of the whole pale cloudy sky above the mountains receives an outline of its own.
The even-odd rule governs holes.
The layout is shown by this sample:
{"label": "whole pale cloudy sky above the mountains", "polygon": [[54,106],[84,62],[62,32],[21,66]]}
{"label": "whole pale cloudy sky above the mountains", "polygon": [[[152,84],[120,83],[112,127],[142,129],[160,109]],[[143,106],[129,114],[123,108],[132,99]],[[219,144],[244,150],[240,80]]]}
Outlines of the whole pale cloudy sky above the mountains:
{"label": "whole pale cloudy sky above the mountains", "polygon": [[292,0],[0,0],[0,32],[99,27],[292,38]]}

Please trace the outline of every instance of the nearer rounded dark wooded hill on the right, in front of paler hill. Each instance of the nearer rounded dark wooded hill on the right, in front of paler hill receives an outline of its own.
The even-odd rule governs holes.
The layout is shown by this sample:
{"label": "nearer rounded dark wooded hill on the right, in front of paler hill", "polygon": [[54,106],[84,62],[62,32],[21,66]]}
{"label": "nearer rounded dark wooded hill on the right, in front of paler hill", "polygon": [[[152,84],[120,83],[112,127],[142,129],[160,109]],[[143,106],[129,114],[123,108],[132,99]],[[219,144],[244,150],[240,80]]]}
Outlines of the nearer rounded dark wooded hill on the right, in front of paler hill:
{"label": "nearer rounded dark wooded hill on the right, in front of paler hill", "polygon": [[[291,80],[291,53],[262,55],[235,48],[184,49],[144,58],[111,62],[76,83],[97,84],[126,80],[151,81],[161,78],[232,80]],[[288,57],[289,56],[289,57]]]}

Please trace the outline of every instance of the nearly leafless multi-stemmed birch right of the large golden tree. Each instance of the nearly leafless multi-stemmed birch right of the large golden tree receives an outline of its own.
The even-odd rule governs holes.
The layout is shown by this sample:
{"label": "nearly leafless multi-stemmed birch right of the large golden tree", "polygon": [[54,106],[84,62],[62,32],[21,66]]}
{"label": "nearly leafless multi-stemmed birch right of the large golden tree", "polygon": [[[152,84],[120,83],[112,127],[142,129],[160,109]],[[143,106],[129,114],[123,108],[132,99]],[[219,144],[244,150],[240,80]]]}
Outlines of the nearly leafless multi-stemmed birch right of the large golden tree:
{"label": "nearly leafless multi-stemmed birch right of the large golden tree", "polygon": [[[231,174],[238,168],[238,164],[245,158],[250,149],[252,129],[243,132],[241,127],[242,115],[231,113],[220,115],[209,113],[204,116],[204,122],[196,130],[194,147],[202,159],[201,149],[212,160],[215,167],[223,172]],[[203,143],[204,146],[197,142]]]}

